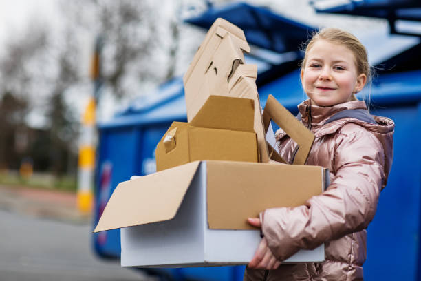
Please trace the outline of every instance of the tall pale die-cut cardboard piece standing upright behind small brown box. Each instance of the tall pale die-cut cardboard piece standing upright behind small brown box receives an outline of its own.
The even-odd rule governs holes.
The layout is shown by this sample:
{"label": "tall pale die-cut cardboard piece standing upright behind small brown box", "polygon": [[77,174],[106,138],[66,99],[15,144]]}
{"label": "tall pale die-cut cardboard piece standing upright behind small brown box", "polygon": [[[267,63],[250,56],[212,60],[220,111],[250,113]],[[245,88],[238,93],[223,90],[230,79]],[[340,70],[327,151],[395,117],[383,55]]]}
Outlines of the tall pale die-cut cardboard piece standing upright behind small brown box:
{"label": "tall pale die-cut cardboard piece standing upright behind small brown box", "polygon": [[267,163],[268,147],[255,83],[257,66],[244,64],[244,52],[250,52],[250,47],[243,30],[217,19],[183,77],[187,120],[193,120],[211,95],[251,98],[255,101],[254,128],[260,161]]}

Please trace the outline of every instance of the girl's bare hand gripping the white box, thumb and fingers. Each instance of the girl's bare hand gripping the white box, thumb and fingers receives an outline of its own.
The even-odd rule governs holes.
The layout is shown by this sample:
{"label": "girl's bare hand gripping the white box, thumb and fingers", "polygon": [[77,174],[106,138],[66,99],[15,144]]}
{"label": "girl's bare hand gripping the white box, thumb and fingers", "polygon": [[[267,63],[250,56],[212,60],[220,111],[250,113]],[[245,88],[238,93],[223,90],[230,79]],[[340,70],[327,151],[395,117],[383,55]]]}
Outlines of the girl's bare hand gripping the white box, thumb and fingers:
{"label": "girl's bare hand gripping the white box, thumb and fingers", "polygon": [[[259,218],[248,218],[248,223],[253,227],[261,227],[261,221]],[[277,261],[277,258],[273,256],[272,251],[268,247],[266,238],[262,238],[257,247],[255,256],[248,263],[250,269],[277,269],[281,262]]]}

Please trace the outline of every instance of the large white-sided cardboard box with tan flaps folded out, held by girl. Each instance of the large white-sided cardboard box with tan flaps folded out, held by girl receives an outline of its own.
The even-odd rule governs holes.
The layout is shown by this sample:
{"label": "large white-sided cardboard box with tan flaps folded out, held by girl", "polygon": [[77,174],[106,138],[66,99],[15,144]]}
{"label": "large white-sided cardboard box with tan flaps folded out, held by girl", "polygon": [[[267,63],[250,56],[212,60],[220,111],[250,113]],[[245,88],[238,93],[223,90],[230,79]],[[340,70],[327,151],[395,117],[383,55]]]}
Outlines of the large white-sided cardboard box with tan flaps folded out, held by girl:
{"label": "large white-sided cardboard box with tan flaps folded out, held by girl", "polygon": [[[323,191],[328,174],[315,166],[188,163],[120,183],[95,232],[122,228],[122,266],[247,264],[261,238],[246,218],[270,207],[302,205]],[[323,260],[321,245],[285,262]]]}

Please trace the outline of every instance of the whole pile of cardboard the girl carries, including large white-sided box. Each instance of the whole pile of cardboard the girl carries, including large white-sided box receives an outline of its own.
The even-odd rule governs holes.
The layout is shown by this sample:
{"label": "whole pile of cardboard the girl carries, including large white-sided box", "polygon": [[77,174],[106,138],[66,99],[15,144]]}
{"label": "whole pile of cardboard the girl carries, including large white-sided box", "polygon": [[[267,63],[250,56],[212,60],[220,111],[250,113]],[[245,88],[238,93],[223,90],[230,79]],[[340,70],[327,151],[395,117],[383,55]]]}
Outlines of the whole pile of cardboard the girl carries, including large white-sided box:
{"label": "whole pile of cardboard the girl carries, including large white-sided box", "polygon": [[[95,232],[122,228],[122,266],[247,264],[261,240],[247,218],[327,186],[326,169],[303,165],[312,133],[273,97],[261,113],[249,50],[241,29],[215,21],[184,76],[188,123],[158,143],[157,173],[116,187]],[[294,165],[272,163],[284,161],[266,142],[271,119],[299,144]],[[285,262],[322,260],[323,245]]]}

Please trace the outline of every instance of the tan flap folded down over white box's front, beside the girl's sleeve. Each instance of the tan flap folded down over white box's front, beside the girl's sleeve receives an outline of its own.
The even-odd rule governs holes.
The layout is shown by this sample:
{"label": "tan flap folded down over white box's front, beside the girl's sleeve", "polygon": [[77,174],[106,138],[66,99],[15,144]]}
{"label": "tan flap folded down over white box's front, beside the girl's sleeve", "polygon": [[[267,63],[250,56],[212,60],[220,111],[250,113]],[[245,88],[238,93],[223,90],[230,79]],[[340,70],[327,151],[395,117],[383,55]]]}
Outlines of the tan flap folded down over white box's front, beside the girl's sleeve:
{"label": "tan flap folded down over white box's front, beside the girl's sleeve", "polygon": [[[210,229],[255,229],[247,218],[273,207],[296,207],[321,194],[325,168],[207,161]],[[328,174],[328,173],[327,173]]]}

